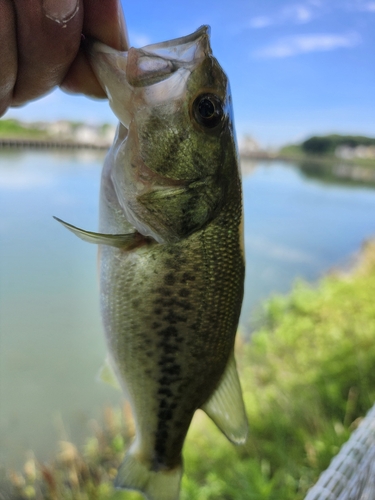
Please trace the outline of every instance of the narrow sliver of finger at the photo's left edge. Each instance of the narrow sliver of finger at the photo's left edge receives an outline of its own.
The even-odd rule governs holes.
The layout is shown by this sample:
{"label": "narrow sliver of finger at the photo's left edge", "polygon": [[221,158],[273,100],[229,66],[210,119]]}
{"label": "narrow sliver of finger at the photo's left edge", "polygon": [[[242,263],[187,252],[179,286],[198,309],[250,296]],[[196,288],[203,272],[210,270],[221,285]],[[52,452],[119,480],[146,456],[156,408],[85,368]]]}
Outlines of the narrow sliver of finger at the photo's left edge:
{"label": "narrow sliver of finger at the photo's left edge", "polygon": [[16,24],[10,0],[0,0],[0,116],[10,106],[17,75]]}

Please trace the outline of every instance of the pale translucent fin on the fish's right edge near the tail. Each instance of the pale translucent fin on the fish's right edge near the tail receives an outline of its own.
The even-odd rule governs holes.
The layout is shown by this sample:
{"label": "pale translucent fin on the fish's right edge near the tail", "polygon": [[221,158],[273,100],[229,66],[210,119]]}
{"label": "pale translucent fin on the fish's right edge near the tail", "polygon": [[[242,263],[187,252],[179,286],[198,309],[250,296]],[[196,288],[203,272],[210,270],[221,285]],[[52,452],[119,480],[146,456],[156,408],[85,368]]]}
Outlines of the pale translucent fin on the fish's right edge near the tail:
{"label": "pale translucent fin on the fish's right edge near the tail", "polygon": [[245,443],[248,423],[233,352],[218,387],[202,410],[230,441]]}

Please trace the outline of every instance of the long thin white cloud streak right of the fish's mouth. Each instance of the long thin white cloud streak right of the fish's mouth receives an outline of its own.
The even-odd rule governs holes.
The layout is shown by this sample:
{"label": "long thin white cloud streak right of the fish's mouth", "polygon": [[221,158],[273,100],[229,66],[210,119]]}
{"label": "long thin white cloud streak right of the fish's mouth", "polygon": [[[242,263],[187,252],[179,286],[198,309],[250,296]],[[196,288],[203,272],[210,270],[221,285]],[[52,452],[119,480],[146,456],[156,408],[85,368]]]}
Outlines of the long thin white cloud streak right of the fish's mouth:
{"label": "long thin white cloud streak right of the fish's mouth", "polygon": [[354,47],[360,43],[356,33],[346,35],[312,34],[295,35],[278,40],[275,44],[259,49],[253,53],[259,58],[291,57],[309,52],[323,52],[343,47]]}

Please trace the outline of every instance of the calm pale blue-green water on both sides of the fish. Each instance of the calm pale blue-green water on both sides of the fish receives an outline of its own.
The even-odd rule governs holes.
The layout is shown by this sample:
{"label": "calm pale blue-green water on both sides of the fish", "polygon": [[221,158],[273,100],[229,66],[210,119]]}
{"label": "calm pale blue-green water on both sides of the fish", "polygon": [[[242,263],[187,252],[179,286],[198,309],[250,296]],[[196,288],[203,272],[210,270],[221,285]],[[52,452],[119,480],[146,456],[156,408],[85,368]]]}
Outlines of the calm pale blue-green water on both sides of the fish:
{"label": "calm pale blue-green water on both sides of the fish", "polygon": [[[51,458],[61,439],[81,444],[91,419],[121,394],[97,381],[105,358],[96,248],[52,215],[96,230],[98,153],[0,155],[0,464],[28,450]],[[347,266],[375,234],[375,190],[323,182],[296,166],[246,164],[246,293],[242,331],[262,300],[297,277]]]}

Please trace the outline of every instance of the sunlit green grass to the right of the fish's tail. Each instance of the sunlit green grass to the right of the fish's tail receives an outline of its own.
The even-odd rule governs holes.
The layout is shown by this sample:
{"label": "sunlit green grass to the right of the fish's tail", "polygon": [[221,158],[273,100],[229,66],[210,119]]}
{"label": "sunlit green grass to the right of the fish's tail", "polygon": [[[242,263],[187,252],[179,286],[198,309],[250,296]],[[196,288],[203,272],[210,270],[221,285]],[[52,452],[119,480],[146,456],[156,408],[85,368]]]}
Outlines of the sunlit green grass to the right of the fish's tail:
{"label": "sunlit green grass to the right of the fish's tail", "polygon": [[374,244],[365,256],[351,276],[298,283],[268,302],[264,327],[239,356],[247,445],[230,449],[208,424],[188,441],[183,484],[205,485],[199,498],[304,498],[374,403]]}

